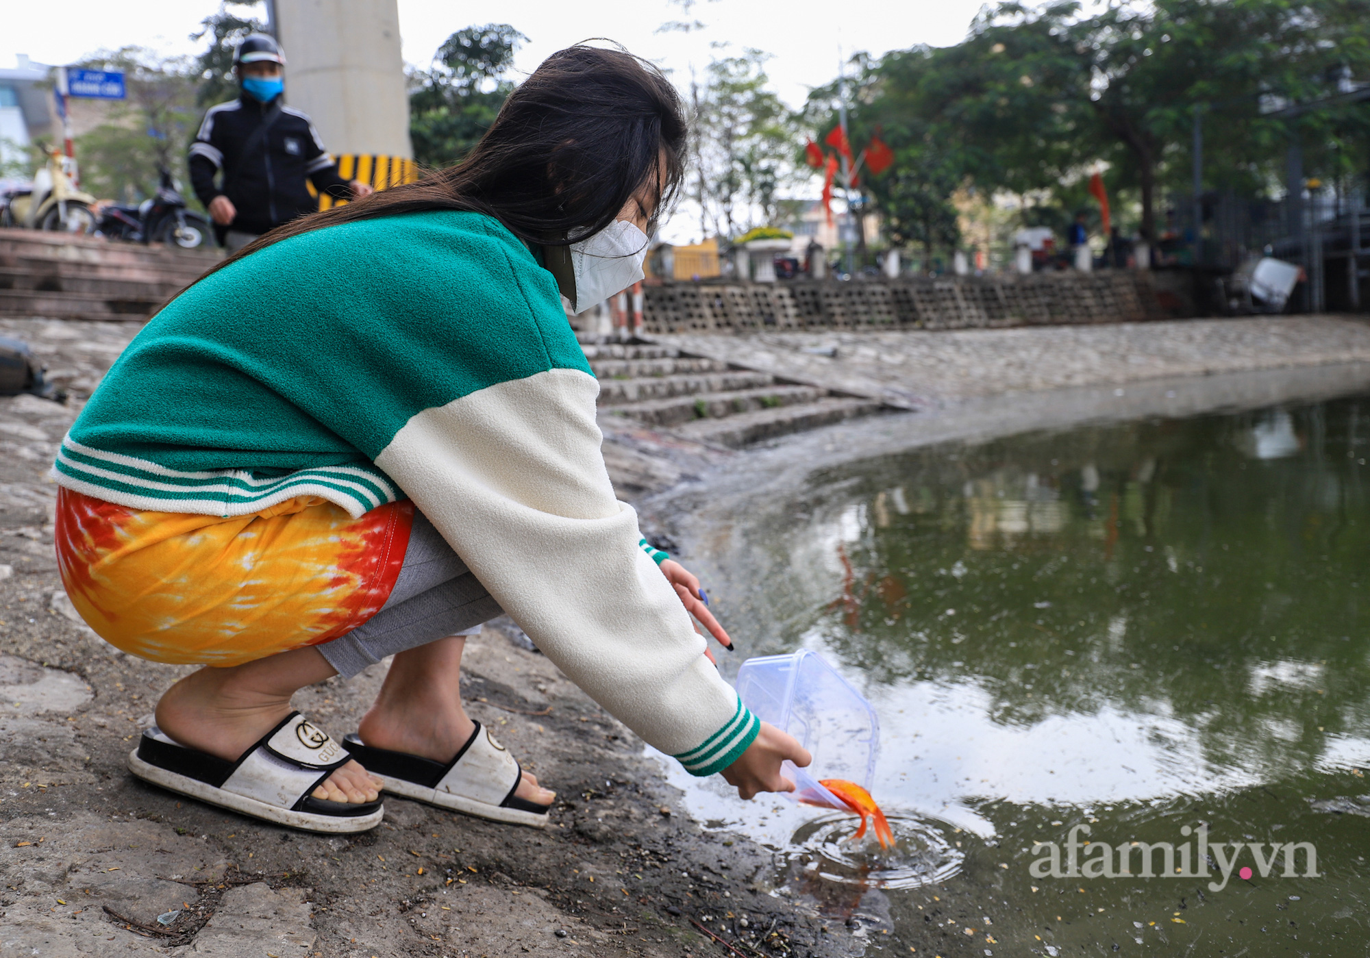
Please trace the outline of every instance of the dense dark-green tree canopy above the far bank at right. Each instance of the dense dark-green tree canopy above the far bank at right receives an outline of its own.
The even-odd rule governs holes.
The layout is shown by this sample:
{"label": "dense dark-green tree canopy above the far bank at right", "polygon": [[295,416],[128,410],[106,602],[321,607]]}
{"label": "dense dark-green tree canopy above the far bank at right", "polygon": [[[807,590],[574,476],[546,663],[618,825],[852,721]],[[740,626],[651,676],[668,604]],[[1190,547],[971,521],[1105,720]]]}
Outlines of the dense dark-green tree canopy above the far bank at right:
{"label": "dense dark-green tree canopy above the far bank at right", "polygon": [[[1323,97],[1337,78],[1370,73],[1365,7],[1156,0],[1086,15],[1075,0],[1003,3],[955,47],[882,57],[852,116],[893,137],[889,189],[908,179],[907,163],[923,163],[940,172],[915,174],[915,190],[1047,192],[1049,209],[1033,215],[1069,218],[1081,181],[1103,163],[1110,192],[1136,196],[1141,233],[1155,238],[1159,190],[1189,187],[1196,107],[1206,109],[1208,185],[1260,194],[1280,183],[1292,135],[1303,138],[1310,168],[1347,174],[1358,160],[1365,168],[1363,109],[1318,111],[1297,127],[1263,109],[1273,99]],[[880,197],[882,189],[873,186],[888,204],[893,194]]]}

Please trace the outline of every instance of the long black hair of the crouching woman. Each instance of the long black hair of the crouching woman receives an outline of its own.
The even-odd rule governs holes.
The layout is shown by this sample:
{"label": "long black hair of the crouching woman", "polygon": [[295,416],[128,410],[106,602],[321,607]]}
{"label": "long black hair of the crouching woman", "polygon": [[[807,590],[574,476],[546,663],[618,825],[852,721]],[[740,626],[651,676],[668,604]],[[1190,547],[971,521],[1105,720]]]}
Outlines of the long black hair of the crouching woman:
{"label": "long black hair of the crouching woman", "polygon": [[660,215],[684,178],[685,137],[680,96],[656,67],[577,44],[510,94],[458,166],[290,220],[215,270],[310,230],[429,209],[486,213],[530,244],[567,245],[608,226],[644,186]]}

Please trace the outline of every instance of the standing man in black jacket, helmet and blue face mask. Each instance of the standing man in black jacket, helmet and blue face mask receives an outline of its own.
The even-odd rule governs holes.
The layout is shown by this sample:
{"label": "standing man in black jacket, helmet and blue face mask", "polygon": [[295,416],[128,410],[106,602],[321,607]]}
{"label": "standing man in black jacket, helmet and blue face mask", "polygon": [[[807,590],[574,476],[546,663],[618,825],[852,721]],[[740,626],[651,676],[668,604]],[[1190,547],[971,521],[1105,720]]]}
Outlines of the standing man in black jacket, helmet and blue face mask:
{"label": "standing man in black jacket, helmet and blue face mask", "polygon": [[190,183],[229,252],[318,209],[306,179],[338,200],[371,193],[369,183],[342,179],[310,118],[281,103],[284,64],[273,37],[245,37],[233,53],[242,94],[210,107],[190,144]]}

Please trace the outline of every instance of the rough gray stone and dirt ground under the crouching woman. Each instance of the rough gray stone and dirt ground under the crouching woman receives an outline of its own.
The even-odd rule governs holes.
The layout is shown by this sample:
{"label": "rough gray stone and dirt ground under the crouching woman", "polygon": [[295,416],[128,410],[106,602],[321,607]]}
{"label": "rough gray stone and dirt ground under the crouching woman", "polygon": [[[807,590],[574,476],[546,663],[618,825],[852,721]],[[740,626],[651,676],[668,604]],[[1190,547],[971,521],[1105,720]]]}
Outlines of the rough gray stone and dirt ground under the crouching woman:
{"label": "rough gray stone and dirt ground under the crouching woman", "polygon": [[[79,621],[45,472],[134,331],[0,323],[71,391],[0,398],[0,955],[847,955],[888,932],[851,905],[792,901],[770,851],[701,829],[641,742],[507,621],[469,642],[462,691],[558,791],[544,831],[389,798],[377,829],[318,836],[133,779],[126,755],[188,668],[125,656]],[[627,494],[682,475],[649,445],[627,435],[611,453]],[[296,706],[345,735],[384,669]]]}

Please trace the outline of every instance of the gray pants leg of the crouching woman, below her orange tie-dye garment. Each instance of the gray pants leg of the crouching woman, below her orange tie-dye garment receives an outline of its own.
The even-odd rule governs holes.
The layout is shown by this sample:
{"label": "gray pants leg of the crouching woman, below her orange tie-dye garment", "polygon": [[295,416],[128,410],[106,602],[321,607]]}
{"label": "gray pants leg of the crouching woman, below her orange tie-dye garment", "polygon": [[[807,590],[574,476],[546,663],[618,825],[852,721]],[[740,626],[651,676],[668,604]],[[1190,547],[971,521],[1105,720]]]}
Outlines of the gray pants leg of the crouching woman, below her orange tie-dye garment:
{"label": "gray pants leg of the crouching woman, below her orange tie-dye garment", "polygon": [[386,656],[416,649],[448,635],[481,631],[481,623],[501,614],[500,604],[452,552],[422,512],[414,512],[410,546],[381,610],[316,649],[345,679]]}

